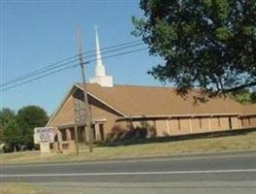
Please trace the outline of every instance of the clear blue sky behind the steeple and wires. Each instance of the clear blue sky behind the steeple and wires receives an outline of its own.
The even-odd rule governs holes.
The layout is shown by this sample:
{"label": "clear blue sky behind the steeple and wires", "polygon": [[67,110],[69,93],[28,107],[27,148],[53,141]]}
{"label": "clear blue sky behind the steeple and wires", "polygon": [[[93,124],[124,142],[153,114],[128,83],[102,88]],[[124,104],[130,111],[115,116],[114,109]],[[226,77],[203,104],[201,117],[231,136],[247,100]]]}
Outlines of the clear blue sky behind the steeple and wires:
{"label": "clear blue sky behind the steeple and wires", "polygon": [[[94,49],[94,25],[101,48],[138,40],[130,35],[131,16],[142,15],[138,0],[0,0],[0,6],[1,83],[76,54],[76,26],[83,31],[84,51]],[[159,85],[146,74],[159,61],[144,50],[103,62],[115,83]],[[86,71],[93,77],[94,64]],[[38,105],[51,114],[76,81],[79,68],[4,91],[1,108]]]}

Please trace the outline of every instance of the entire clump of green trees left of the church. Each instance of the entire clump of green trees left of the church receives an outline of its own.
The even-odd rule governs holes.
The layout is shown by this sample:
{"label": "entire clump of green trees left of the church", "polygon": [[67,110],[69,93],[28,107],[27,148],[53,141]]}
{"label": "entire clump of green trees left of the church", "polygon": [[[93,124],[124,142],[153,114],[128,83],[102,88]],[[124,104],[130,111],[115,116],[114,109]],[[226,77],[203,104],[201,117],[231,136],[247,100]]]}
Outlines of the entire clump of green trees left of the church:
{"label": "entire clump of green trees left of the church", "polygon": [[34,128],[45,126],[47,122],[47,113],[37,106],[24,107],[18,113],[4,108],[0,110],[0,143],[7,144],[10,151],[21,146],[31,149]]}

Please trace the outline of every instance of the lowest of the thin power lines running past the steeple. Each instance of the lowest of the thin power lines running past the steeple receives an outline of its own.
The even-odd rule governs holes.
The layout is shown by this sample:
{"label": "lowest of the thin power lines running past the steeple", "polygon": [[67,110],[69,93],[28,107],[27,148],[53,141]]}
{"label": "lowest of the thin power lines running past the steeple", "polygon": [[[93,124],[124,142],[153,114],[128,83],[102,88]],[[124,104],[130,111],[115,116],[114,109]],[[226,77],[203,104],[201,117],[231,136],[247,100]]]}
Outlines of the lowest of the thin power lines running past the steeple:
{"label": "lowest of the thin power lines running past the steeple", "polygon": [[[112,55],[108,55],[108,56],[103,56],[102,59],[112,58],[112,57],[121,56],[121,55],[129,54],[129,53],[134,53],[134,52],[138,52],[138,51],[145,50],[145,49],[148,49],[148,48],[141,48],[141,49],[128,50],[128,51],[120,52],[120,53],[117,53],[117,54],[112,54]],[[91,63],[91,62],[93,62],[93,61],[96,61],[96,59],[89,60],[89,61],[86,62],[86,64]],[[62,71],[67,70],[67,69],[75,68],[75,67],[77,67],[77,66],[79,66],[79,64],[72,64],[72,65],[69,65],[69,66],[67,66],[67,67],[64,67],[64,68],[55,70],[55,71],[50,72],[50,73],[48,73],[48,74],[42,75],[42,76],[40,76],[40,77],[37,77],[37,78],[34,78],[34,79],[30,79],[30,80],[28,80],[28,81],[19,82],[19,83],[15,84],[15,85],[11,85],[11,86],[8,86],[8,87],[4,87],[4,88],[0,89],[0,92],[3,92],[3,91],[6,91],[6,90],[9,90],[9,89],[18,87],[18,86],[20,86],[20,85],[29,83],[29,82],[31,82],[31,81],[37,81],[37,80],[40,80],[40,79],[42,79],[42,78],[49,77],[49,76],[54,75],[54,74],[56,74],[56,73],[62,72]]]}

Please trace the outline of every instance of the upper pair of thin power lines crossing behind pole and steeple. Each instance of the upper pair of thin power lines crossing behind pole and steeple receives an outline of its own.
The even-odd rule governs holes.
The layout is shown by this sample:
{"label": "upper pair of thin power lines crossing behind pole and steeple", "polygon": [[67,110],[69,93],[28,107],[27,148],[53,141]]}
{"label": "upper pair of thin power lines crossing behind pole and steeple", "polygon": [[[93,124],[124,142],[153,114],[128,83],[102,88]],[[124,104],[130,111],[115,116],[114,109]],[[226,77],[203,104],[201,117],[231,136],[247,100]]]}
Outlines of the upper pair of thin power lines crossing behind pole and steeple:
{"label": "upper pair of thin power lines crossing behind pole and steeple", "polygon": [[[127,43],[123,43],[123,44],[119,44],[119,45],[115,45],[115,46],[111,46],[111,47],[107,47],[107,48],[103,48],[101,50],[106,50],[102,53],[108,53],[108,52],[111,52],[111,51],[115,51],[115,50],[119,50],[119,49],[128,49],[129,47],[136,47],[136,46],[139,46],[139,45],[142,45],[143,43],[141,41],[132,41],[132,42],[127,42]],[[121,47],[121,48],[120,48]],[[116,49],[115,49],[116,48]],[[108,50],[108,49],[111,49],[111,50]],[[89,50],[87,52],[84,52],[83,55],[87,55],[91,52],[94,52],[95,50]],[[91,57],[91,56],[95,56],[94,54],[92,55],[89,55],[88,57]],[[0,87],[3,87],[3,86],[7,86],[7,85],[10,85],[12,84],[13,82],[18,82],[18,81],[22,81],[22,80],[26,80],[27,78],[29,77],[35,77],[39,74],[42,74],[44,72],[47,72],[49,70],[53,70],[53,69],[56,69],[58,67],[61,67],[63,65],[67,65],[68,63],[72,63],[72,62],[75,62],[78,60],[78,54],[76,55],[73,55],[73,56],[70,56],[68,58],[65,58],[65,59],[62,59],[60,61],[57,61],[51,65],[48,65],[46,67],[43,67],[43,68],[40,68],[38,70],[35,70],[35,71],[32,71],[30,73],[27,73],[23,76],[20,76],[14,80],[11,80],[11,81],[7,81],[7,82],[4,82],[4,83],[1,83],[0,84]],[[76,58],[76,59],[74,59]],[[72,59],[72,60],[71,60]],[[67,61],[68,60],[68,61]]]}

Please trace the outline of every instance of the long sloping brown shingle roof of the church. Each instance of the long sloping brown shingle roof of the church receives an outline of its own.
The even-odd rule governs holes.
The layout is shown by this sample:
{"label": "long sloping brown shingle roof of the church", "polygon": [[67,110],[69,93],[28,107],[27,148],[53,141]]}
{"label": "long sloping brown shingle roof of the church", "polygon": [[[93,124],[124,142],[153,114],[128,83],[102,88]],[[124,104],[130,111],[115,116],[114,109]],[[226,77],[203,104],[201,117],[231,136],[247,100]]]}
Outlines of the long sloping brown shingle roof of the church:
{"label": "long sloping brown shingle roof of the church", "polygon": [[[75,83],[83,88],[82,83]],[[183,99],[170,87],[119,85],[101,87],[88,83],[89,94],[128,116],[164,114],[241,113],[241,105],[229,97],[195,104],[193,93]]]}

